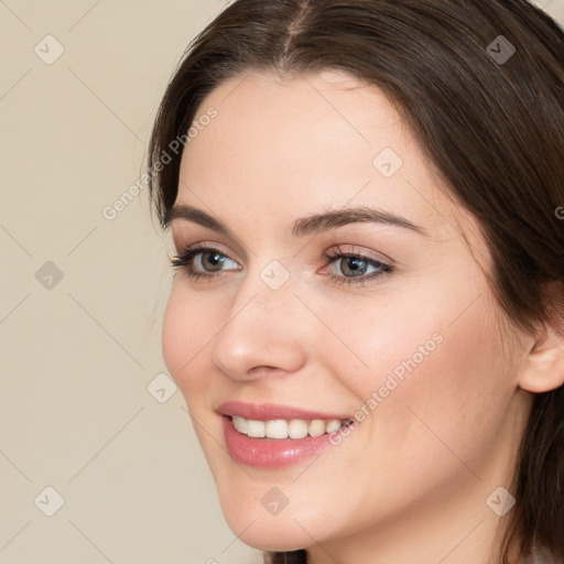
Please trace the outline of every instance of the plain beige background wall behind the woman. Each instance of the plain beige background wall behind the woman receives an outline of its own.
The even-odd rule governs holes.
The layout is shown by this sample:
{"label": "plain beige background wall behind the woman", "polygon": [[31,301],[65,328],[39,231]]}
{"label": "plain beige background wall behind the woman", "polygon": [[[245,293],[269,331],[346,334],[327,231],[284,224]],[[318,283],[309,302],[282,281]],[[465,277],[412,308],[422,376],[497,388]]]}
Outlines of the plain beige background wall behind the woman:
{"label": "plain beige background wall behind the woman", "polygon": [[[538,3],[564,22],[564,0]],[[258,560],[159,376],[172,271],[147,191],[102,215],[140,175],[174,64],[225,6],[0,1],[0,564]],[[52,517],[46,487],[64,498]]]}

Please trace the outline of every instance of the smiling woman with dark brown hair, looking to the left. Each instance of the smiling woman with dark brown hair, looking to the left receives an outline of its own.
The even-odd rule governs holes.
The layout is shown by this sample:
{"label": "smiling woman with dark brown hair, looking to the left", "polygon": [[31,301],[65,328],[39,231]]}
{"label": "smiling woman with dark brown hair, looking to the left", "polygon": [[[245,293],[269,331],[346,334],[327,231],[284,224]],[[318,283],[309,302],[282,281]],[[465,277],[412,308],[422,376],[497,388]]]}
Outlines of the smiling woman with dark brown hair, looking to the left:
{"label": "smiling woman with dark brown hair, looking to the left", "polygon": [[239,0],[151,140],[163,355],[267,562],[564,562],[564,34]]}

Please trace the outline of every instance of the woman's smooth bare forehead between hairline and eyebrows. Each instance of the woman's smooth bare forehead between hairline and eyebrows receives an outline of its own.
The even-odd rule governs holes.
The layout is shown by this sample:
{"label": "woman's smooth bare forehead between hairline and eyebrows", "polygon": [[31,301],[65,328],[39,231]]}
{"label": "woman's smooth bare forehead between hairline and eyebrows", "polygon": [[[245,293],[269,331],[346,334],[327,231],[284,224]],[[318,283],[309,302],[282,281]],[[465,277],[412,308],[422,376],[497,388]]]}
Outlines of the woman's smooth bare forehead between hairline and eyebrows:
{"label": "woman's smooth bare forehead between hairline and eyebrows", "polygon": [[227,213],[250,206],[288,221],[327,207],[378,205],[441,230],[463,214],[373,85],[333,70],[291,79],[251,73],[216,88],[195,122],[210,108],[217,116],[184,151],[178,202],[195,204],[196,193],[215,209],[228,200]]}

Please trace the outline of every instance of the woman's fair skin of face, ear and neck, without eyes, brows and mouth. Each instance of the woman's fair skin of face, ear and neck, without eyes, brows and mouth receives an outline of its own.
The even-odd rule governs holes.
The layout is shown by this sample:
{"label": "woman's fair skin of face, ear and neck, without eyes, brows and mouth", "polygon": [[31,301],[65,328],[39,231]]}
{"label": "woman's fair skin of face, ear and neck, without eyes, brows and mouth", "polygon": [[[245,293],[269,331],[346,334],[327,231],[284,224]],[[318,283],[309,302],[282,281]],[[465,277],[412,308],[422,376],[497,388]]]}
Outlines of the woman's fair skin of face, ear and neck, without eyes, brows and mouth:
{"label": "woman's fair skin of face, ear and neck, without eyes, brows and mouth", "polygon": [[[176,203],[220,219],[234,238],[172,221],[178,252],[203,242],[229,260],[212,281],[178,271],[163,355],[228,524],[258,549],[307,547],[315,564],[496,563],[500,518],[486,499],[510,488],[530,391],[562,383],[564,369],[547,376],[561,362],[552,334],[507,323],[486,282],[477,221],[446,195],[376,87],[335,72],[252,73],[220,85],[198,115],[209,107],[217,117],[184,151]],[[403,161],[389,178],[372,164],[383,148]],[[290,232],[300,217],[352,205],[426,235],[370,223]],[[395,269],[336,283],[329,274],[350,276],[345,261],[323,258],[337,246]],[[273,260],[290,274],[279,290],[260,278]],[[442,343],[319,457],[267,470],[228,455],[221,402],[354,416],[434,334]],[[289,501],[278,516],[261,503],[274,486]]]}

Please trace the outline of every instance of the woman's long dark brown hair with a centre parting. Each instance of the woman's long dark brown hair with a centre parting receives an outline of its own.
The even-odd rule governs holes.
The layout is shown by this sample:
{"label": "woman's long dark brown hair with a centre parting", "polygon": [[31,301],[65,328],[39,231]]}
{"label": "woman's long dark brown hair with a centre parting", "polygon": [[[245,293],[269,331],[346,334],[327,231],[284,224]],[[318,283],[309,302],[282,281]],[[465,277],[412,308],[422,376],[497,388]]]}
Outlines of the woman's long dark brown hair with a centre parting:
{"label": "woman's long dark brown hair with a centre parting", "polygon": [[[564,33],[527,0],[232,3],[188,46],[159,109],[148,165],[161,225],[178,188],[171,142],[186,135],[207,95],[251,70],[328,68],[389,97],[452,197],[478,219],[488,280],[511,323],[532,332],[555,314],[564,319]],[[500,561],[508,564],[513,543],[523,555],[540,545],[564,561],[563,387],[534,397],[512,494]],[[307,560],[303,550],[265,558]]]}

